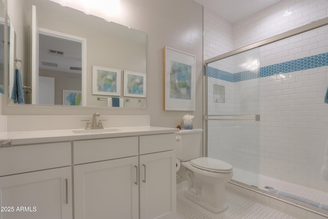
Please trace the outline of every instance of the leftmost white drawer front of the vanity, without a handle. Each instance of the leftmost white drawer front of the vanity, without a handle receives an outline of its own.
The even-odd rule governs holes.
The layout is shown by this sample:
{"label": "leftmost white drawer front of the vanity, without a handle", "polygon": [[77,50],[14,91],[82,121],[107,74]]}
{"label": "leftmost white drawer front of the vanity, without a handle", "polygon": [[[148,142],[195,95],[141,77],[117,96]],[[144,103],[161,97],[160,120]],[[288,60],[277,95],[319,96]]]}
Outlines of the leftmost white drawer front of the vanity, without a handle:
{"label": "leftmost white drawer front of the vanity, without a handle", "polygon": [[0,148],[0,176],[71,165],[71,143]]}

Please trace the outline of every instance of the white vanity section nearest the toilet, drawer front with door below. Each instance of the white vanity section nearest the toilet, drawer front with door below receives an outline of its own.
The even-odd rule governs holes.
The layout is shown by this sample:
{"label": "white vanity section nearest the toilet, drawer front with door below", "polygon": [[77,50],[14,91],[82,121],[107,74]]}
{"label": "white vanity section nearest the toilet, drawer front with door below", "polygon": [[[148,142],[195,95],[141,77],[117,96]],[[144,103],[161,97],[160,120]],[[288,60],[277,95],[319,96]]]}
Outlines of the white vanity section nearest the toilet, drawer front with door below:
{"label": "white vanity section nearest the toilet, drawer front with door below", "polygon": [[140,136],[139,153],[140,218],[175,218],[175,134]]}

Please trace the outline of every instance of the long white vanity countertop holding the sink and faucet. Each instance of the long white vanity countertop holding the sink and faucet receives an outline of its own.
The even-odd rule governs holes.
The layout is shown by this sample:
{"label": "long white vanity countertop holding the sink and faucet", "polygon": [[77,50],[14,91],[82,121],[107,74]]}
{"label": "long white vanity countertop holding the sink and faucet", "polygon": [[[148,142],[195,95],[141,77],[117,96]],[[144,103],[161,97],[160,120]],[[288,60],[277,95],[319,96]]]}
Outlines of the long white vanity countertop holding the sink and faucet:
{"label": "long white vanity countertop holding the sink and faucet", "polygon": [[[154,126],[117,127],[108,129],[105,128],[96,130],[84,130],[85,129],[67,129],[49,131],[4,132],[0,134],[0,140],[11,139],[12,146],[18,146],[25,144],[88,140],[95,138],[168,134],[179,131],[176,128],[164,128]],[[74,131],[82,131],[83,133],[75,133]]]}

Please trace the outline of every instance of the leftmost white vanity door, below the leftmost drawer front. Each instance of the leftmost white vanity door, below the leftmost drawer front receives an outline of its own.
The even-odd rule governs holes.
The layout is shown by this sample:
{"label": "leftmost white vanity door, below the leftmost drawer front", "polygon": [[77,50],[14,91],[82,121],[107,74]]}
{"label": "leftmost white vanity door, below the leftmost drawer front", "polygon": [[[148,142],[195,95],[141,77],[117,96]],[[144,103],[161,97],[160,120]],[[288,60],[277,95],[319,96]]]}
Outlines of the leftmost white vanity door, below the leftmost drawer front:
{"label": "leftmost white vanity door, below the leftmost drawer front", "polygon": [[63,167],[0,177],[0,218],[72,218],[71,175]]}

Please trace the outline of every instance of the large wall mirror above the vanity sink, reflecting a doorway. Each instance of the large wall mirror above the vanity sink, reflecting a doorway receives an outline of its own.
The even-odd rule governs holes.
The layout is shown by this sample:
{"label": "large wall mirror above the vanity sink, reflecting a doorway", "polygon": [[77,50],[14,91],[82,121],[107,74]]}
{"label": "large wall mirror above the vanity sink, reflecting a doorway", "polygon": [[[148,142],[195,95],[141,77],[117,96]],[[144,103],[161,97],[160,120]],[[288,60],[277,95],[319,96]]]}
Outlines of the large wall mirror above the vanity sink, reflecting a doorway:
{"label": "large wall mirror above the vanity sink, reflecting a doorway", "polygon": [[92,69],[98,66],[120,71],[115,97],[124,99],[124,107],[146,108],[147,98],[123,92],[124,71],[146,74],[146,33],[48,0],[10,0],[8,16],[16,35],[11,56],[18,60],[10,62],[9,96],[18,68],[25,104],[70,105],[74,94],[76,105],[107,107],[113,94],[92,92]]}

